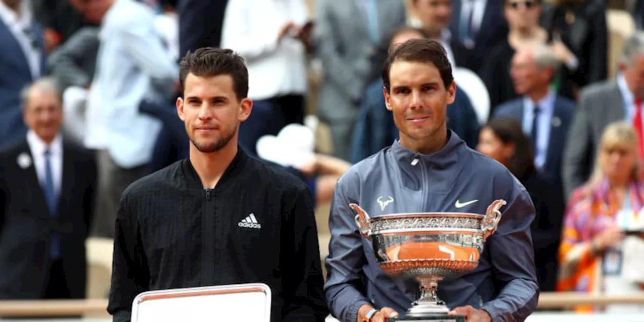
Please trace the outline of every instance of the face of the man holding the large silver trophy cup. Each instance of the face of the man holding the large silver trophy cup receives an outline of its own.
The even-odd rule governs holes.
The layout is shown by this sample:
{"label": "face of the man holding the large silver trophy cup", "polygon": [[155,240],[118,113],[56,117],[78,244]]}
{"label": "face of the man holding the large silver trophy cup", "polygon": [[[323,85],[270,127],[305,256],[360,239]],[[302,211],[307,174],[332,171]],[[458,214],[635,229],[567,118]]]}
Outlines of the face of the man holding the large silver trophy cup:
{"label": "face of the man holding the large silver trophy cup", "polygon": [[433,64],[395,61],[389,79],[390,92],[384,90],[384,100],[401,139],[422,141],[446,130],[447,106],[454,102],[456,86],[452,83],[445,89]]}

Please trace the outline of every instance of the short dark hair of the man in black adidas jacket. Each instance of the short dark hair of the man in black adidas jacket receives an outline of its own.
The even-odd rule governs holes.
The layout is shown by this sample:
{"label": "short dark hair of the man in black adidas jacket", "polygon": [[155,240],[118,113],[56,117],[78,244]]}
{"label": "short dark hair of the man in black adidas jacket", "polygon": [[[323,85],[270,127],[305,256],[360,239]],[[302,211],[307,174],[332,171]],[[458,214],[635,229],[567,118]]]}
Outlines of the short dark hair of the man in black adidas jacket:
{"label": "short dark hair of the man in black adidas jacket", "polygon": [[231,75],[237,99],[248,97],[248,69],[243,58],[232,50],[204,47],[194,53],[186,53],[179,64],[182,94],[185,89],[185,78],[189,73],[198,77]]}

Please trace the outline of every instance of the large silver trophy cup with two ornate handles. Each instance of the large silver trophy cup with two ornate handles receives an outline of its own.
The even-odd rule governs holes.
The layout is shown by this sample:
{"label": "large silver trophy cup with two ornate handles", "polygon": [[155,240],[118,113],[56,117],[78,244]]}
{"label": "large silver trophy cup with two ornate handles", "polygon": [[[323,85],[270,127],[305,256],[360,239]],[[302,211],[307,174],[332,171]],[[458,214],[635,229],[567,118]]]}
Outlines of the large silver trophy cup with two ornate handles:
{"label": "large silver trophy cup with two ornate handles", "polygon": [[505,204],[505,200],[495,200],[486,214],[399,213],[374,218],[359,205],[349,205],[381,269],[391,276],[413,277],[421,284],[421,296],[397,321],[464,321],[447,316],[450,309],[437,296],[438,283],[478,266],[484,243],[497,231],[499,209]]}

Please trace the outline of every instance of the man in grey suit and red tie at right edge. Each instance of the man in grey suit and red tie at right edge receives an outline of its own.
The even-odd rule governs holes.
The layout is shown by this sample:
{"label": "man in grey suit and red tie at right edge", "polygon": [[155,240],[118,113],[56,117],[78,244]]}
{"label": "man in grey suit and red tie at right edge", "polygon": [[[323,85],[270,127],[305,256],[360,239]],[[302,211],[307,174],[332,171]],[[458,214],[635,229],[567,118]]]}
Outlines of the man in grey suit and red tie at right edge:
{"label": "man in grey suit and red tie at right edge", "polygon": [[591,176],[597,144],[608,124],[632,122],[641,139],[644,99],[644,33],[638,32],[624,44],[620,75],[583,88],[564,151],[564,188],[567,196]]}

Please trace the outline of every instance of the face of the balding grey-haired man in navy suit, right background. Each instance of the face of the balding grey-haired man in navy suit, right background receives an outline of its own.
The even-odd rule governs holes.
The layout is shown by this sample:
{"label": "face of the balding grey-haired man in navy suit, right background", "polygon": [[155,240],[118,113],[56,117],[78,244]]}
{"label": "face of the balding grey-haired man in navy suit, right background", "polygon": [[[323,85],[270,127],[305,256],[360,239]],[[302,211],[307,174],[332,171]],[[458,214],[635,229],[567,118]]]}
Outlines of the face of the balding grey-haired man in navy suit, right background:
{"label": "face of the balding grey-haired man in navy suit, right background", "polygon": [[516,52],[512,57],[510,76],[519,95],[524,95],[539,86],[547,86],[550,73],[549,70],[542,70],[536,66],[533,53],[528,50]]}

